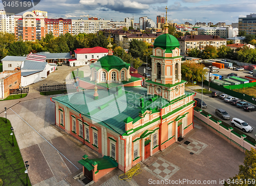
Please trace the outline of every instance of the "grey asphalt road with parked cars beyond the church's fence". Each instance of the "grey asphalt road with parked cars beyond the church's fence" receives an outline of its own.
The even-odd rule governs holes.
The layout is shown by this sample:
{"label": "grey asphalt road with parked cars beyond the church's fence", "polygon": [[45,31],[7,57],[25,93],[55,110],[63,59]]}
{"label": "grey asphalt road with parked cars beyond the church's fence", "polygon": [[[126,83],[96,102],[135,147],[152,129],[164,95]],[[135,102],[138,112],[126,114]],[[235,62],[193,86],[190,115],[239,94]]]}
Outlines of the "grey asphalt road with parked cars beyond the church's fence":
{"label": "grey asphalt road with parked cars beyond the church's fence", "polygon": [[[195,98],[201,99],[201,94],[197,93]],[[216,116],[217,118],[220,118],[215,114],[216,109],[224,109],[229,115],[230,120],[224,120],[226,123],[230,124],[231,126],[231,119],[232,118],[239,118],[244,120],[246,123],[248,123],[252,128],[252,132],[248,132],[248,136],[255,138],[256,134],[256,111],[253,112],[246,112],[243,109],[239,109],[236,107],[236,105],[232,105],[230,103],[225,102],[223,99],[220,98],[212,98],[210,95],[203,95],[203,101],[207,104],[207,108],[204,109],[206,112],[208,112],[211,115]],[[221,118],[220,118],[221,119]]]}

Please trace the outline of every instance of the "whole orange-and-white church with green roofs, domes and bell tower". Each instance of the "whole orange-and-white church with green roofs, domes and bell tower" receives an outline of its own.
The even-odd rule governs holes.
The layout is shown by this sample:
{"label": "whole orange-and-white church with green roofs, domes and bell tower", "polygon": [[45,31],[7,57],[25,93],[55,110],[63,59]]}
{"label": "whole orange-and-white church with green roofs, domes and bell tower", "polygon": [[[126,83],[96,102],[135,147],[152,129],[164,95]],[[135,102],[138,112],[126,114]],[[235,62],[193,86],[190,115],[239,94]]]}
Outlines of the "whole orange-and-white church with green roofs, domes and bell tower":
{"label": "whole orange-and-white church with green roofs, domes and bell tower", "polygon": [[154,42],[152,79],[144,88],[128,73],[130,64],[113,56],[110,44],[108,55],[91,65],[91,76],[79,79],[81,91],[52,98],[56,125],[102,154],[79,161],[94,181],[117,166],[130,170],[194,128],[194,94],[185,91],[181,79],[179,46],[165,23]]}

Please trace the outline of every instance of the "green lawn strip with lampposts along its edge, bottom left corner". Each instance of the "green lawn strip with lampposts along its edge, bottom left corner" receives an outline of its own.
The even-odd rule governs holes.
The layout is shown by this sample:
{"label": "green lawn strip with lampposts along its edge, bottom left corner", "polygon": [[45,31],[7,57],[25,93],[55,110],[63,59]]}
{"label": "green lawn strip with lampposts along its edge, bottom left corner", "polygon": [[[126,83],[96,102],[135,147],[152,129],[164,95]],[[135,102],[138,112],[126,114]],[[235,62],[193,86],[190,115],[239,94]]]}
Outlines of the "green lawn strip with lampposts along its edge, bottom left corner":
{"label": "green lawn strip with lampposts along its edge, bottom left corner", "polygon": [[[26,160],[23,160],[20,154],[15,135],[14,147],[12,146],[11,123],[9,120],[5,123],[5,118],[0,117],[0,125],[0,178],[4,181],[3,185],[26,185]],[[29,178],[28,183],[31,185]]]}

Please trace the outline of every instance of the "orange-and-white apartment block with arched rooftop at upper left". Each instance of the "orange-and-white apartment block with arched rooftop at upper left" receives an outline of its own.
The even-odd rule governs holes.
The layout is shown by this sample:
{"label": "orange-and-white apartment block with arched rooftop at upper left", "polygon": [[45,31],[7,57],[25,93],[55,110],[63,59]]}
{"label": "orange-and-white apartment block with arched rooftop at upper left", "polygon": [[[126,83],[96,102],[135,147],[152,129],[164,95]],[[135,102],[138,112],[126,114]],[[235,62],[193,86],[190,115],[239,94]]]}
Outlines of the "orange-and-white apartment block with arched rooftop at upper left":
{"label": "orange-and-white apartment block with arched rooftop at upper left", "polygon": [[20,41],[35,41],[45,37],[45,17],[36,16],[33,12],[16,15],[15,36]]}

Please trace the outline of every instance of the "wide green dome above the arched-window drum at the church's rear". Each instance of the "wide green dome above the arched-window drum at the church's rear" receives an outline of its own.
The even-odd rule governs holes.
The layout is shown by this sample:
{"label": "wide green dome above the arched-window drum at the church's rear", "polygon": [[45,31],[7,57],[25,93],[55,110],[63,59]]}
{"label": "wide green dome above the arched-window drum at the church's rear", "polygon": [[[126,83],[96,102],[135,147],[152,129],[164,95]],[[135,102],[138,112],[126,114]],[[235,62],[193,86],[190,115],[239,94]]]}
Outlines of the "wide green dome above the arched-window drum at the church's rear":
{"label": "wide green dome above the arched-window drum at the church's rear", "polygon": [[99,68],[104,68],[106,70],[110,70],[112,68],[116,68],[118,70],[121,70],[123,67],[128,69],[130,64],[127,64],[121,60],[121,58],[114,56],[114,55],[107,55],[100,58],[96,63],[91,64],[91,68],[95,67],[97,70]]}

